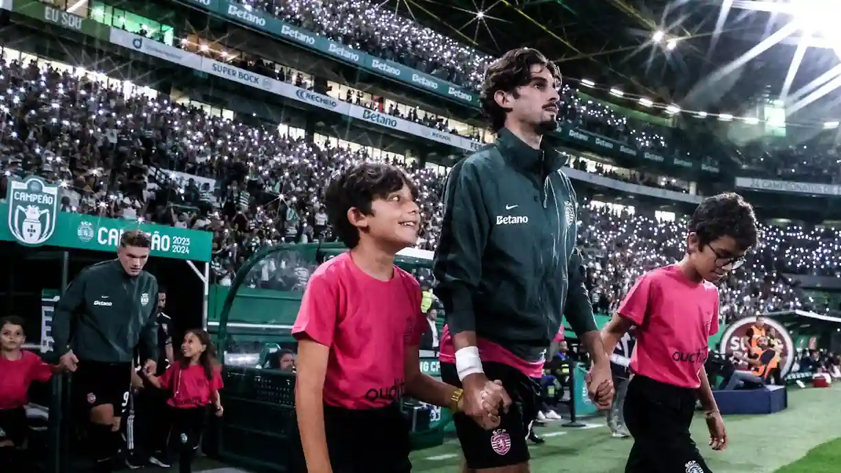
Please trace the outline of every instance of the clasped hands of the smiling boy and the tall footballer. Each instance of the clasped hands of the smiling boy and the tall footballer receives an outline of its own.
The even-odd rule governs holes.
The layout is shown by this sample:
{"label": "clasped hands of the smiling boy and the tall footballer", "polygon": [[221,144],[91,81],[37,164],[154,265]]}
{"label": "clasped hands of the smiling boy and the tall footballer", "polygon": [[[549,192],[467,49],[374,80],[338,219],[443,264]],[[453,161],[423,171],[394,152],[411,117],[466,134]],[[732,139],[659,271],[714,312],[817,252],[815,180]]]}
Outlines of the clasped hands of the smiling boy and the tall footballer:
{"label": "clasped hands of the smiling boy and the tall footballer", "polygon": [[463,386],[464,394],[458,402],[458,410],[484,429],[499,427],[500,413],[508,412],[511,405],[502,381],[490,381],[484,373],[474,373],[464,378]]}

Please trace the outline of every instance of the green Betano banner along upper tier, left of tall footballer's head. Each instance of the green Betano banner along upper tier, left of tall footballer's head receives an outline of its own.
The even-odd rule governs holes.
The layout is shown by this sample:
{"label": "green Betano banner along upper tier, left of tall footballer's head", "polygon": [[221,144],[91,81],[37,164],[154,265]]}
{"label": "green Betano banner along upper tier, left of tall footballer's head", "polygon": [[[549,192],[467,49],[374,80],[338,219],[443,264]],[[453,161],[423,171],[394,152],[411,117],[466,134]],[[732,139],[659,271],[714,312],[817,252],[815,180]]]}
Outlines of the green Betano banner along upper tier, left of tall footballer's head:
{"label": "green Betano banner along upper tier, left of tall footballer's head", "polygon": [[412,87],[461,102],[468,107],[479,108],[479,96],[464,90],[462,87],[442,81],[435,76],[415,71],[392,60],[380,59],[362,51],[354,50],[306,29],[283,23],[268,13],[246,8],[245,5],[240,3],[231,3],[226,0],[183,0],[182,3],[203,8],[220,15],[222,18],[228,18],[235,23],[244,24],[249,28],[257,29],[278,39],[284,39],[294,45],[315,50],[322,55],[357,66],[378,76],[405,82]]}

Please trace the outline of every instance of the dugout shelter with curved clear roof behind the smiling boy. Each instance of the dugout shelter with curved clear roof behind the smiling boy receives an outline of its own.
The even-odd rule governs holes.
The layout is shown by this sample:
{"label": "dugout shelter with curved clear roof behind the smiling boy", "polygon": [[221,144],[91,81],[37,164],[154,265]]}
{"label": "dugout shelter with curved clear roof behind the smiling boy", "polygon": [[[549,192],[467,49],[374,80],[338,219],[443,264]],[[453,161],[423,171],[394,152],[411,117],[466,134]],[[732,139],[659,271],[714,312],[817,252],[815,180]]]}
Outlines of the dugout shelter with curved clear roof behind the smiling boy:
{"label": "dugout shelter with curved clear roof behind the smiling boy", "polygon": [[[291,335],[309,276],[325,260],[340,255],[342,244],[287,244],[257,251],[237,271],[220,309],[211,308],[209,330],[220,347],[225,416],[214,445],[223,460],[254,470],[285,471],[288,443],[297,434],[294,374],[272,370],[272,350],[294,349]],[[397,264],[431,281],[431,251],[401,251]],[[441,318],[443,323],[443,318]],[[436,376],[435,353],[422,353],[421,371]],[[446,409],[404,402],[413,424],[413,448],[442,444],[451,418]]]}

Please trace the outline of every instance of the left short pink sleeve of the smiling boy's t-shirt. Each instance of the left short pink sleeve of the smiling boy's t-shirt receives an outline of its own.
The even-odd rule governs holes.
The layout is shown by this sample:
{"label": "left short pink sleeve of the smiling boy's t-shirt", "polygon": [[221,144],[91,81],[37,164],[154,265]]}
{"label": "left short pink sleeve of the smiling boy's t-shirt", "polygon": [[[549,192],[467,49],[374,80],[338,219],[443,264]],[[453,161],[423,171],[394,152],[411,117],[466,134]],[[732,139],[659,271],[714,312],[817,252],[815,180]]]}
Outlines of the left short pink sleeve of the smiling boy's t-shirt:
{"label": "left short pink sleeve of the smiling boy's t-shirt", "polygon": [[331,274],[329,271],[316,272],[309,278],[292,327],[295,339],[311,339],[325,346],[333,344],[339,318],[339,291]]}

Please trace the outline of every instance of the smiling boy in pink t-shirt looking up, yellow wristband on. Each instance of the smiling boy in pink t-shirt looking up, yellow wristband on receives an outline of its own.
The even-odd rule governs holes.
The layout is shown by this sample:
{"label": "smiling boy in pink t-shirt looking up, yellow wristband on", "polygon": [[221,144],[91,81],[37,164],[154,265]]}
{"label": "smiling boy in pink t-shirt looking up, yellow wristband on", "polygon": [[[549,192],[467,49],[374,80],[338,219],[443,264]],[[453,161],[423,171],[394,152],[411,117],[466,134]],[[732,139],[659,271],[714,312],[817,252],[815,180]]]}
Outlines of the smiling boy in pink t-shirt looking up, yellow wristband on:
{"label": "smiling boy in pink t-shirt looking up, yellow wristband on", "polygon": [[[510,405],[500,385],[481,405],[461,389],[421,374],[421,286],[394,265],[415,244],[417,189],[394,166],[353,166],[325,194],[334,233],[351,250],[309,280],[292,333],[299,340],[295,412],[309,473],[407,473],[404,395],[466,413],[484,428]],[[477,403],[479,404],[479,403]]]}

